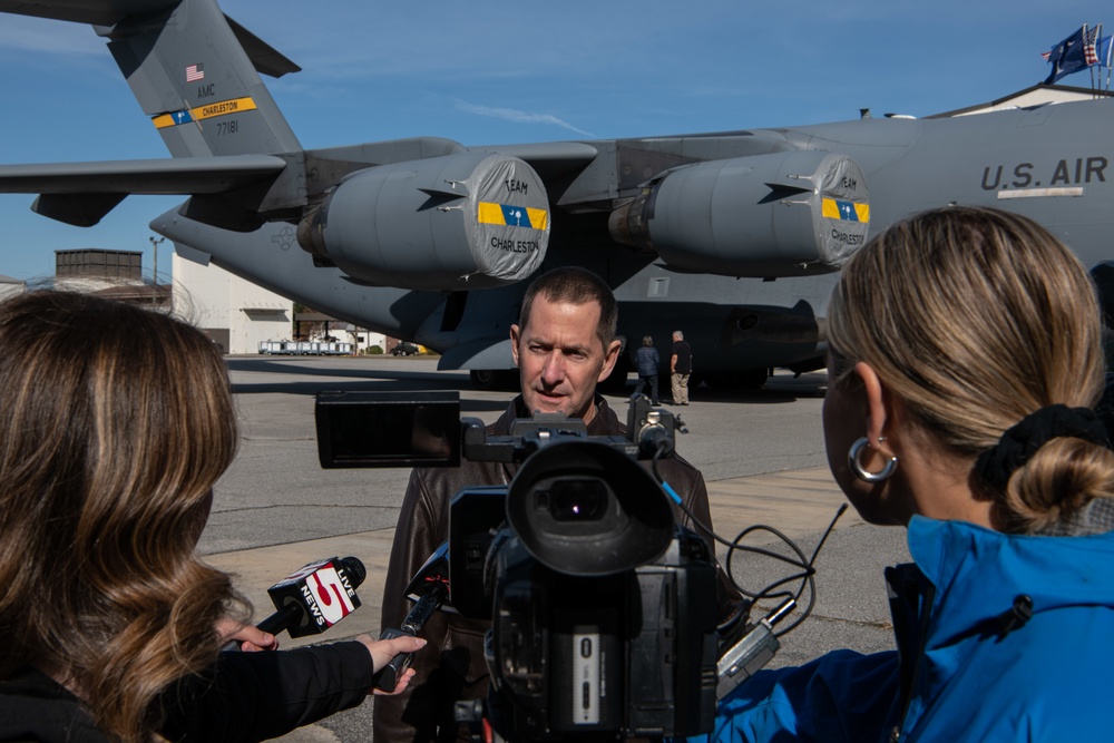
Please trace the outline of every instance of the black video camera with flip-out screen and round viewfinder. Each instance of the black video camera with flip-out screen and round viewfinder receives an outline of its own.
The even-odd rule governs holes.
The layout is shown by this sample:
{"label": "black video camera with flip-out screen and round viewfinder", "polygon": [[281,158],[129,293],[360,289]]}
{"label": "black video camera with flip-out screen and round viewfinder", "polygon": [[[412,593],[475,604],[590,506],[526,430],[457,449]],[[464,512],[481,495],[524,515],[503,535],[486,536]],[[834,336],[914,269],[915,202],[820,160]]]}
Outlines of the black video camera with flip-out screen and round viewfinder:
{"label": "black video camera with flip-out screen and round viewfinder", "polygon": [[635,395],[627,437],[590,437],[554,414],[492,437],[459,411],[455,392],[316,401],[322,467],[453,466],[461,454],[520,465],[509,487],[457,492],[448,542],[408,590],[402,632],[420,632],[438,606],[492,623],[491,688],[486,703],[459,704],[461,718],[511,741],[710,732],[715,563],[637,462],[673,453],[676,419]]}

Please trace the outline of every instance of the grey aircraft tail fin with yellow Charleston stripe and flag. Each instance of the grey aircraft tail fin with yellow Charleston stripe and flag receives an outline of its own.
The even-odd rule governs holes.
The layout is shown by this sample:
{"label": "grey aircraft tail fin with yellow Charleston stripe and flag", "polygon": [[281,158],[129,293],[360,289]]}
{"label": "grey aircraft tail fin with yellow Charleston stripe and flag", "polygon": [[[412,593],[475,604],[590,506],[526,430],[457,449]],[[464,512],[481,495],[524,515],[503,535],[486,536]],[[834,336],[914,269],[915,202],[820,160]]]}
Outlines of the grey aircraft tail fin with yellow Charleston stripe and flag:
{"label": "grey aircraft tail fin with yellow Charleston stripe and flag", "polygon": [[182,0],[168,9],[165,0],[150,4],[155,12],[123,17],[97,32],[109,39],[116,63],[170,155],[301,150],[258,75],[277,77],[297,71],[296,65],[226,18],[216,0]]}

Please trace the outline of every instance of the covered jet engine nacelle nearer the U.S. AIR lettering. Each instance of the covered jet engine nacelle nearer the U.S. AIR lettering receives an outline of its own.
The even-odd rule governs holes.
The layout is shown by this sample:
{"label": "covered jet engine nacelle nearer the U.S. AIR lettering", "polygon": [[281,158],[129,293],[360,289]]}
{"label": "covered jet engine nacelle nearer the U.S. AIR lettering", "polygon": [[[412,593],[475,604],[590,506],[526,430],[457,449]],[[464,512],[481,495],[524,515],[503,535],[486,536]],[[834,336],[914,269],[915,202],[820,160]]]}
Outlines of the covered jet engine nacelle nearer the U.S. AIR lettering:
{"label": "covered jet engine nacelle nearer the U.S. AIR lettering", "polygon": [[776,277],[838,271],[866,243],[869,221],[854,160],[793,150],[668,170],[608,227],[682,271]]}

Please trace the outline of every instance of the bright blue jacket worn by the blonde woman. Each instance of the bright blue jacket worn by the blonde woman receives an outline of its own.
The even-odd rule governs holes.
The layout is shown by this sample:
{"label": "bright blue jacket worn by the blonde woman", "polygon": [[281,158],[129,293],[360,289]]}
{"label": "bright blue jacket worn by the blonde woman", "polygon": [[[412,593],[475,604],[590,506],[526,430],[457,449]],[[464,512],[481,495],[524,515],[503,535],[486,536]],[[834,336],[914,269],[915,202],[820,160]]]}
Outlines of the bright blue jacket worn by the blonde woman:
{"label": "bright blue jacket worn by the blonde woman", "polygon": [[[1012,536],[913,517],[909,551],[916,565],[887,570],[897,652],[760,672],[721,701],[714,740],[1114,736],[1114,532]],[[1006,630],[1019,595],[1033,616]]]}

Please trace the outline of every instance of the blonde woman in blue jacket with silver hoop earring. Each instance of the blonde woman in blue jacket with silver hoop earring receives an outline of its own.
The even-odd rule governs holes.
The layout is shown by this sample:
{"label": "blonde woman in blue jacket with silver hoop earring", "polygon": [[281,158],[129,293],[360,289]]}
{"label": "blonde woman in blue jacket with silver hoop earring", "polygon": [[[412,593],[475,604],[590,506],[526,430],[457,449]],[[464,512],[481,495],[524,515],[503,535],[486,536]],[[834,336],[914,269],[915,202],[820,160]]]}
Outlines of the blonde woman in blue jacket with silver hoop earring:
{"label": "blonde woman in blue jacket with silver hoop earring", "polygon": [[824,439],[873,524],[897,652],[762,672],[719,740],[1067,741],[1110,735],[1114,452],[1095,291],[1034,222],[989,208],[891,226],[829,307]]}

